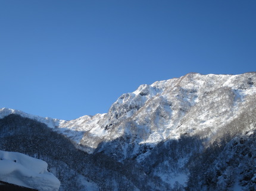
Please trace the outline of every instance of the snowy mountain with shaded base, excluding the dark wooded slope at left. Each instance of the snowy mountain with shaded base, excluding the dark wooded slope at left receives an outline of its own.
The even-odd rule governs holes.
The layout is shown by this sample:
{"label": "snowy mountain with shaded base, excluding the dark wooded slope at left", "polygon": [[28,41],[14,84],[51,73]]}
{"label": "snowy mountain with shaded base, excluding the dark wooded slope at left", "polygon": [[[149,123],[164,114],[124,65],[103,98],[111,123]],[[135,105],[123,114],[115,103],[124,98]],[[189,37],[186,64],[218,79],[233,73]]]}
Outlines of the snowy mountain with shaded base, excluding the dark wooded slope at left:
{"label": "snowy mountain with shaded base, excluding the dark wooded slope at left", "polygon": [[[65,121],[4,108],[0,109],[0,118],[18,114],[45,123],[64,135],[64,140],[71,140],[76,149],[90,154],[86,156],[97,165],[93,173],[99,164],[106,164],[111,172],[115,169],[114,173],[123,173],[122,180],[129,182],[126,188],[132,182],[142,190],[182,190],[185,186],[192,190],[226,190],[238,185],[253,190],[255,85],[255,72],[190,73],[140,85],[117,98],[104,114]],[[105,161],[98,161],[102,157]],[[88,162],[87,158],[83,165]],[[65,163],[70,165],[69,161]],[[142,179],[143,185],[136,182]],[[96,179],[100,185],[107,185],[101,181]]]}

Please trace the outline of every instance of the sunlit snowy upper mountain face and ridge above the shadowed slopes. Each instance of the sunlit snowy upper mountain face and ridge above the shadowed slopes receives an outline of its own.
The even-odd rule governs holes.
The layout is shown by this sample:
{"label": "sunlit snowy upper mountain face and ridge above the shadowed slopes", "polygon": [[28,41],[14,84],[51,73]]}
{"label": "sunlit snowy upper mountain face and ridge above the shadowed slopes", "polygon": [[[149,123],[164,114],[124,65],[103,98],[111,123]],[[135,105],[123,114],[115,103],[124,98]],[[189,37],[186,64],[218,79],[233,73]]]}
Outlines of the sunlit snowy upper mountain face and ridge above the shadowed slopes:
{"label": "sunlit snowy upper mountain face and ridge above the shadowed slopes", "polygon": [[[255,72],[187,74],[141,85],[133,93],[120,96],[105,114],[65,121],[1,109],[0,117],[16,113],[38,120],[88,152],[96,148],[98,151],[111,150],[118,160],[123,160],[138,155],[140,145],[152,148],[160,141],[178,139],[183,134],[214,135],[218,128],[248,107],[256,94],[255,84]],[[109,143],[117,139],[123,140],[122,144],[119,141],[110,146]]]}

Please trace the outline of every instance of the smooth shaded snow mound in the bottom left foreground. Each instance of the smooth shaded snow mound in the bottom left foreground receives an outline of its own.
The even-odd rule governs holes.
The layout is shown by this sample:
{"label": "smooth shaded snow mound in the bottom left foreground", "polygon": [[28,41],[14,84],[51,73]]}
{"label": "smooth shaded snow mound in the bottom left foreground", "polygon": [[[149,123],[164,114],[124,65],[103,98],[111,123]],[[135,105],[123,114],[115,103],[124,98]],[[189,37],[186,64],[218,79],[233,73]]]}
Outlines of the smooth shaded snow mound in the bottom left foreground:
{"label": "smooth shaded snow mound in the bottom left foreground", "polygon": [[0,151],[0,180],[37,190],[58,190],[60,181],[47,163],[19,152]]}

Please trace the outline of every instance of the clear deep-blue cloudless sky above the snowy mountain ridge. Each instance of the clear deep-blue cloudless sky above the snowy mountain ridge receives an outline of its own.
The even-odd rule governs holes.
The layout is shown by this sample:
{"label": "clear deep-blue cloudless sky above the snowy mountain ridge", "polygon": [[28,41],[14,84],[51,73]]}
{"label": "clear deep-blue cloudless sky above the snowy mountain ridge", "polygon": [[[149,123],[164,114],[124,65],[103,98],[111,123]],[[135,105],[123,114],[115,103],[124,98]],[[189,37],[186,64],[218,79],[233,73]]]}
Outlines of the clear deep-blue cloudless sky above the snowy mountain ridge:
{"label": "clear deep-blue cloudless sky above the snowy mountain ridge", "polygon": [[70,120],[141,84],[255,68],[255,0],[0,2],[0,107]]}

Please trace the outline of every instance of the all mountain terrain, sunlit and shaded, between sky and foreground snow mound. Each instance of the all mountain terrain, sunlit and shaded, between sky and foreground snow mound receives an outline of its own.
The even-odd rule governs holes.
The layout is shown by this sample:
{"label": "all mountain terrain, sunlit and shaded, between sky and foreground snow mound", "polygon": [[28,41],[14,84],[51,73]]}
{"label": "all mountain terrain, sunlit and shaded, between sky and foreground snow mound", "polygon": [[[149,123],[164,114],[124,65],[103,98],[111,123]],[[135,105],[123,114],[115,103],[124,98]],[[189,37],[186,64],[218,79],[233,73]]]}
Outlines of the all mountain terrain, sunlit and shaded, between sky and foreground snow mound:
{"label": "all mountain terrain, sunlit and shaded, between sky and foreground snow mound", "polygon": [[255,190],[255,84],[187,74],[70,121],[1,109],[0,149],[46,161],[62,190]]}

